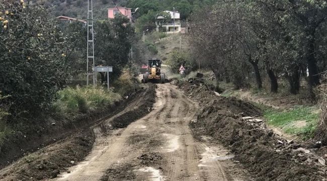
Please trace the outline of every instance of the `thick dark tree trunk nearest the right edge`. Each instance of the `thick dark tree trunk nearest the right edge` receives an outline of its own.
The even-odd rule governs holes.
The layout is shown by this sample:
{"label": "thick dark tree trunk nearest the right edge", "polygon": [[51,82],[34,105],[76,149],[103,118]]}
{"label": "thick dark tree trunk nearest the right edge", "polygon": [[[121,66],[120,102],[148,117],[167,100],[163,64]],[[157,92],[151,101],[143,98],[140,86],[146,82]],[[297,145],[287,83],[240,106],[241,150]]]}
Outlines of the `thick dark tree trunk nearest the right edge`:
{"label": "thick dark tree trunk nearest the right edge", "polygon": [[309,85],[310,87],[315,87],[317,85],[319,85],[319,71],[318,71],[318,66],[316,63],[316,59],[315,59],[315,39],[314,39],[314,35],[315,35],[315,30],[311,30],[310,32],[308,32],[307,34],[309,34],[311,36],[310,40],[309,40],[309,45],[308,45],[308,51],[307,51],[307,57],[306,57],[306,61],[308,64],[308,69],[309,69]]}

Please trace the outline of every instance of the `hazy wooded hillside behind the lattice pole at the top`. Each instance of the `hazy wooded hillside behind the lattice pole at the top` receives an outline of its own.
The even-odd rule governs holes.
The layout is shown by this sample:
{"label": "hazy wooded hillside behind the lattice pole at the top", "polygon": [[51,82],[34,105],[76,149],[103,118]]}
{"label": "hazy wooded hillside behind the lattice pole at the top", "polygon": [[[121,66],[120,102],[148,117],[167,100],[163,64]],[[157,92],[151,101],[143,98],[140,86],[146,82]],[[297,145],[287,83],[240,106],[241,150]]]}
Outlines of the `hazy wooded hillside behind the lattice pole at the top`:
{"label": "hazy wooded hillside behind the lattice pole at the top", "polygon": [[[117,5],[126,3],[125,0],[115,0]],[[86,0],[49,0],[46,6],[52,7],[54,16],[87,18],[88,1]],[[94,0],[93,15],[94,19],[104,19],[107,17],[107,9],[113,8],[112,0]]]}

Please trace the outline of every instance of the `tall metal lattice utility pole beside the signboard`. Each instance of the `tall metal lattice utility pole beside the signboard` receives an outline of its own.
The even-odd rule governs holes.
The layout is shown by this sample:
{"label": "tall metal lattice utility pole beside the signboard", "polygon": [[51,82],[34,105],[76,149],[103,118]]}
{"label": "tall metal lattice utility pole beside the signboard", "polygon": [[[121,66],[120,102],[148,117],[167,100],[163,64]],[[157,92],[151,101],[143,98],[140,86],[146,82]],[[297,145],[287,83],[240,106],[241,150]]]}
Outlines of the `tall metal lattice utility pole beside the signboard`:
{"label": "tall metal lattice utility pole beside the signboard", "polygon": [[[93,2],[88,0],[88,45],[87,45],[87,85],[89,76],[93,76],[93,85],[96,85],[95,62],[94,62],[94,29],[93,29]],[[91,35],[90,35],[91,34]]]}

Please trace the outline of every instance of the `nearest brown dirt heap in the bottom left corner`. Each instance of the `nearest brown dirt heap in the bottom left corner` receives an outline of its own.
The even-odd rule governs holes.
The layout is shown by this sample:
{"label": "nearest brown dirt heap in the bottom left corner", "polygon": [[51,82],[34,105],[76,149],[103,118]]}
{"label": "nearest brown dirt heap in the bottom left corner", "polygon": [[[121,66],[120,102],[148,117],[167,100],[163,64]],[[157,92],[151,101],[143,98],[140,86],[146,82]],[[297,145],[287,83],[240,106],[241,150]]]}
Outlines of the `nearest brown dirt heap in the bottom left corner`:
{"label": "nearest brown dirt heap in the bottom left corner", "polygon": [[95,139],[91,130],[58,141],[31,153],[1,170],[1,180],[41,180],[56,177],[66,167],[83,160]]}

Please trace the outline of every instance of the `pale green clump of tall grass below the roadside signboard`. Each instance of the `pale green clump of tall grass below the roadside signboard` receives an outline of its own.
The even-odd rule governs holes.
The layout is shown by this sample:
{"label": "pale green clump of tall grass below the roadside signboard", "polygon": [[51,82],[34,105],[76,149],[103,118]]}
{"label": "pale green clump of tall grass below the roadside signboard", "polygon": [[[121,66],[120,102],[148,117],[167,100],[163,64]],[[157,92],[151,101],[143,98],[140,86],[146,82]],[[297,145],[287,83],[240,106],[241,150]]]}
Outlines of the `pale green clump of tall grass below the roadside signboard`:
{"label": "pale green clump of tall grass below the roadside signboard", "polygon": [[89,110],[105,108],[121,99],[118,94],[112,91],[94,86],[68,87],[59,91],[57,98],[53,106],[63,114],[86,113]]}

